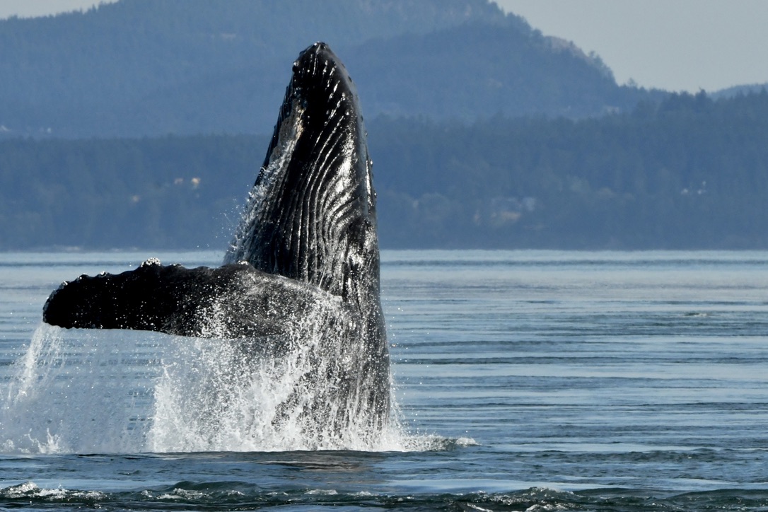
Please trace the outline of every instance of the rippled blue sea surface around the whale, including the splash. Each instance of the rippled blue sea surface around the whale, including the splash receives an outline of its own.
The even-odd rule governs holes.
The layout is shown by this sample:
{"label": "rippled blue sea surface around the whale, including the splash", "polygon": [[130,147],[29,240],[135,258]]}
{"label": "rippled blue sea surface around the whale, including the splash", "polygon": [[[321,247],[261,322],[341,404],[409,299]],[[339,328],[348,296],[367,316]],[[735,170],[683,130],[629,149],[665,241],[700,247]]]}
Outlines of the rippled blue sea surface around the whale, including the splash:
{"label": "rippled blue sea surface around the whale, including the splash", "polygon": [[384,251],[398,421],[325,451],[184,434],[214,345],[41,325],[149,256],[223,254],[0,254],[0,508],[768,510],[768,253]]}

